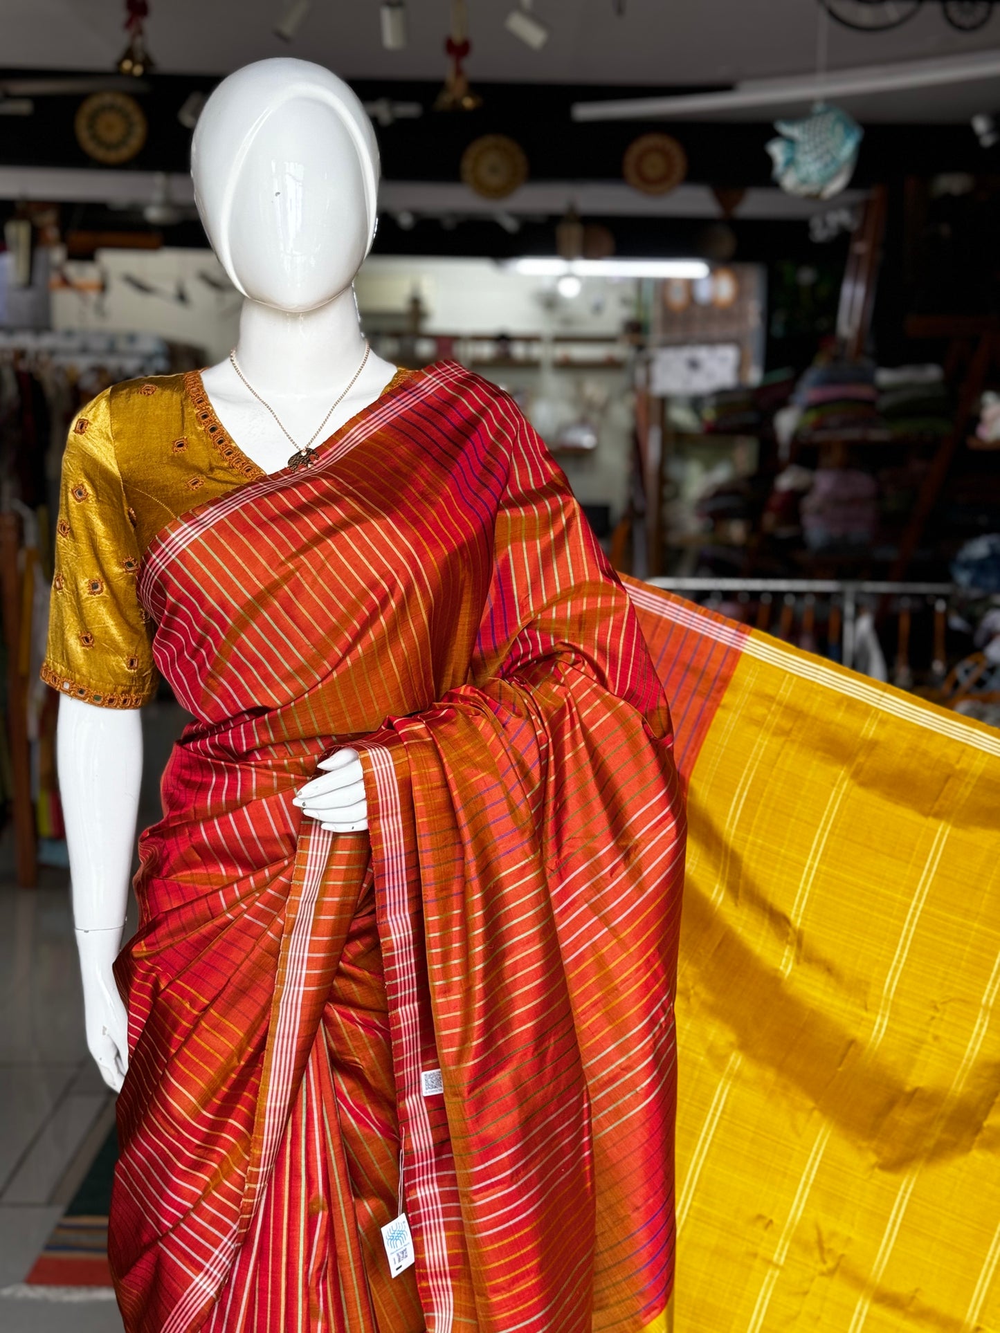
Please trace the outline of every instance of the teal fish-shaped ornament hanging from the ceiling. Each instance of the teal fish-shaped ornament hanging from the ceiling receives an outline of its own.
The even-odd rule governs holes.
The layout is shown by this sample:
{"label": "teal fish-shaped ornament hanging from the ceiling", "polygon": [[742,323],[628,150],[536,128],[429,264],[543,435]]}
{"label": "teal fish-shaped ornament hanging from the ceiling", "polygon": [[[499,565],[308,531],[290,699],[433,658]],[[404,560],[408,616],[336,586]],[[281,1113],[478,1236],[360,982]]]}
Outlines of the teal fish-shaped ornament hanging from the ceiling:
{"label": "teal fish-shaped ornament hanging from the ceiling", "polygon": [[767,149],[781,189],[803,199],[832,199],[845,188],[864,136],[852,116],[820,101],[801,120],[776,120],[775,129],[781,137],[769,140]]}

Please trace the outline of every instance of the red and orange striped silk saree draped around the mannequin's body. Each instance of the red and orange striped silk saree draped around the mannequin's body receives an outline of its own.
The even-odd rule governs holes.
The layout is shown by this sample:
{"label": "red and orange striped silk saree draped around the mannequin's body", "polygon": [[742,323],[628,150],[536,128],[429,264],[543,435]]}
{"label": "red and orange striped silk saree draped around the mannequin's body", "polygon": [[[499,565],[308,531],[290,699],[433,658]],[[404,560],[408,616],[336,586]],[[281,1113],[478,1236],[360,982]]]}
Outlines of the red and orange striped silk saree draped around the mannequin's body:
{"label": "red and orange striped silk saree draped around the mannequin's body", "polygon": [[[117,965],[129,1333],[664,1330],[669,714],[535,433],[437,365],[172,521],[139,591],[195,721]],[[292,805],[347,744],[368,834]]]}

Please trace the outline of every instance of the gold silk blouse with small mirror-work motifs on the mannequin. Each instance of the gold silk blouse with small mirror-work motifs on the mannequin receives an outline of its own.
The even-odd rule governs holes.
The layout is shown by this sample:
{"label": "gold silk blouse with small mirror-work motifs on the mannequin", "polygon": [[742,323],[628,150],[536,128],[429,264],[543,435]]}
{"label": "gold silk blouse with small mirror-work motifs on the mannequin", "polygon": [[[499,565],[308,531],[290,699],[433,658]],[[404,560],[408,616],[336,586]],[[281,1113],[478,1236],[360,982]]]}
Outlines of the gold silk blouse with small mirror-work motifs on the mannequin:
{"label": "gold silk blouse with small mirror-work motifs on the mannequin", "polygon": [[197,371],[127,380],[88,403],[63,456],[41,678],[103,708],[148,702],[157,674],[155,627],[136,595],[143,553],[172,519],[263,476]]}

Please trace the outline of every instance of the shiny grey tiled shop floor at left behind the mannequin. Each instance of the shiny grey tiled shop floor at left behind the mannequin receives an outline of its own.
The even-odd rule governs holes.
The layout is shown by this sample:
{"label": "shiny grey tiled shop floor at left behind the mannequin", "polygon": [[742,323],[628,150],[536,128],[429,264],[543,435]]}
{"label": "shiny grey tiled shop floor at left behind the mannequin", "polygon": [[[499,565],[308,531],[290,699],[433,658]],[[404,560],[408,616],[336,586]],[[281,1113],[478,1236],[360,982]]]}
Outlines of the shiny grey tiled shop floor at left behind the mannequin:
{"label": "shiny grey tiled shop floor at left behind the mannequin", "polygon": [[[159,816],[159,776],[184,721],[143,710],[140,824]],[[113,1098],[84,1040],[65,872],[12,884],[0,838],[0,1333],[121,1333],[112,1300],[52,1301],[17,1292],[113,1124]]]}

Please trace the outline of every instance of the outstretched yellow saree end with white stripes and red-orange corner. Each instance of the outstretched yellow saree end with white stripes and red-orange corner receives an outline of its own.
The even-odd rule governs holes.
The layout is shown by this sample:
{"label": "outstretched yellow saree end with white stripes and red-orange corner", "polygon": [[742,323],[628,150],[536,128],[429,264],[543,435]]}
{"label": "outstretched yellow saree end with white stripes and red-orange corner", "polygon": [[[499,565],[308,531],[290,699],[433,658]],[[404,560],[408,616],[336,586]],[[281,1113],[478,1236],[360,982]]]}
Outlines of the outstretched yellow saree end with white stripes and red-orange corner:
{"label": "outstretched yellow saree end with white stripes and red-orange corner", "polygon": [[629,581],[688,792],[679,1333],[1000,1328],[1000,733]]}

